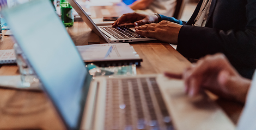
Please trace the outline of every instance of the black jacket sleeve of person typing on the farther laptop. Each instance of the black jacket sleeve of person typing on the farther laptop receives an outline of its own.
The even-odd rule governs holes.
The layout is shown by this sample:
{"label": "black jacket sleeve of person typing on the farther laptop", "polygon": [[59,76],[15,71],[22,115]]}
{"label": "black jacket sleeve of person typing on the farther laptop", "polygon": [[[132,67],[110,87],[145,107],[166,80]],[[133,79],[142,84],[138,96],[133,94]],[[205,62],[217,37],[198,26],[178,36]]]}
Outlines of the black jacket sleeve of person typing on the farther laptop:
{"label": "black jacket sleeve of person typing on the farther laptop", "polygon": [[256,68],[255,7],[256,1],[247,0],[244,19],[247,22],[243,28],[222,30],[187,24],[182,26],[177,50],[183,56],[194,59],[208,54],[223,53],[242,76],[251,79]]}

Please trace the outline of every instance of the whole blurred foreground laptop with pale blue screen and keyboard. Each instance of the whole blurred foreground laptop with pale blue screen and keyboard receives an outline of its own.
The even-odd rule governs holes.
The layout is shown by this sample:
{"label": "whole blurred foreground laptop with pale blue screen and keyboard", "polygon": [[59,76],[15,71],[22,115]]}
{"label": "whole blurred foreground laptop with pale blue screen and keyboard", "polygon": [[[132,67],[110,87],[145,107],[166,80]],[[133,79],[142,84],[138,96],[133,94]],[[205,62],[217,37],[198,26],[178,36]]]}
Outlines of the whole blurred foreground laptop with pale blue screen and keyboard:
{"label": "whole blurred foreground laptop with pale blue screen and keyboard", "polygon": [[2,15],[66,129],[234,129],[206,95],[188,98],[181,80],[92,77],[50,1],[30,1]]}

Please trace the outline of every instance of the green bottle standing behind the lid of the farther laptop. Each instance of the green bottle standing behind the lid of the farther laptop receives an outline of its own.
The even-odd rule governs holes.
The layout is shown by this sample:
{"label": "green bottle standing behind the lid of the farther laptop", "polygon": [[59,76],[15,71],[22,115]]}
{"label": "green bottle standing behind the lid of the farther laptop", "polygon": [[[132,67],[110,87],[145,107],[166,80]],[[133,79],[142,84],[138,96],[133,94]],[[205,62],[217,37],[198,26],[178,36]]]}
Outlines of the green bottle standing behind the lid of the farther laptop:
{"label": "green bottle standing behind the lid of the farther laptop", "polygon": [[72,27],[74,24],[74,15],[72,6],[66,0],[60,0],[60,13],[65,27]]}

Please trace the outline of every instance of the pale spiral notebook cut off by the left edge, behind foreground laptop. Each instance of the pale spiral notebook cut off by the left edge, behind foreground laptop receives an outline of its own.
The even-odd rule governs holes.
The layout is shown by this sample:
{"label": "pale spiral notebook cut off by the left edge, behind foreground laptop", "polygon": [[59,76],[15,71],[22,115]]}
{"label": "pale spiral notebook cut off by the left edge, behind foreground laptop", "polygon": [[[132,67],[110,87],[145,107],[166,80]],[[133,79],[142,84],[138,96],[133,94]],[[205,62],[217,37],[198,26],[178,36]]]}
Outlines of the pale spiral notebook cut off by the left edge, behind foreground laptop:
{"label": "pale spiral notebook cut off by the left edge, behind foreground laptop", "polygon": [[0,64],[16,63],[16,57],[13,49],[0,50]]}

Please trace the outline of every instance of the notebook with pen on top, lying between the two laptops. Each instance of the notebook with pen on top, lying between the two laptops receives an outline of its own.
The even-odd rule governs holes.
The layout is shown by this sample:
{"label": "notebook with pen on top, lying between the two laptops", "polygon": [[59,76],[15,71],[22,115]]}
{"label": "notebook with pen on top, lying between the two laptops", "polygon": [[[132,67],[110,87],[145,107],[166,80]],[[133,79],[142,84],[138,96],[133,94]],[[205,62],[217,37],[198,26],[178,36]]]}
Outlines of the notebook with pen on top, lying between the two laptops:
{"label": "notebook with pen on top, lying between the two laptops", "polygon": [[[141,66],[142,59],[129,43],[92,44],[76,46],[86,64],[94,63],[99,67]],[[111,49],[109,52],[108,50]],[[106,55],[107,54],[107,55]]]}

